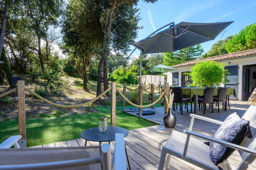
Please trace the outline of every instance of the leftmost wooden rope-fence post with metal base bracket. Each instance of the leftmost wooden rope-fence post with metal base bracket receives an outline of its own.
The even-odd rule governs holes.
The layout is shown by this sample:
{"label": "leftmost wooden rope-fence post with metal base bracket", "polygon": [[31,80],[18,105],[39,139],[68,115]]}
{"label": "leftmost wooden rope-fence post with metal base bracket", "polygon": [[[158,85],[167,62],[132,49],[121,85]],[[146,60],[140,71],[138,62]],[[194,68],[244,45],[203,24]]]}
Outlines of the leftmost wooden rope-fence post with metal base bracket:
{"label": "leftmost wooden rope-fence post with metal base bracket", "polygon": [[19,145],[21,148],[26,148],[26,112],[25,112],[25,82],[18,81],[18,116],[19,116]]}

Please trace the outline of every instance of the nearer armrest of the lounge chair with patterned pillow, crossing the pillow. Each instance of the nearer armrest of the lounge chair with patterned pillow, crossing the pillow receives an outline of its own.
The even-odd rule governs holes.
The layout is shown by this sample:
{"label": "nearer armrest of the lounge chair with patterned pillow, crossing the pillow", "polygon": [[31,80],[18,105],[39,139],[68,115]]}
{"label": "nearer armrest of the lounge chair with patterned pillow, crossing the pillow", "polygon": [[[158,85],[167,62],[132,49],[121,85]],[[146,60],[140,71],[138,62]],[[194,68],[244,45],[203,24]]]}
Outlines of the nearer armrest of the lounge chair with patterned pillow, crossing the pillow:
{"label": "nearer armrest of the lounge chair with patterned pillow, crossing the pillow", "polygon": [[185,129],[184,129],[183,132],[186,133],[189,136],[190,135],[191,136],[196,136],[196,137],[199,137],[199,138],[202,138],[202,139],[206,139],[206,140],[211,141],[211,142],[219,143],[221,145],[225,145],[225,146],[228,146],[230,148],[234,148],[234,149],[237,149],[237,150],[241,150],[241,151],[244,151],[244,152],[256,155],[256,151],[255,150],[252,150],[252,149],[249,149],[249,148],[245,148],[243,146],[235,145],[235,144],[232,144],[232,143],[229,143],[229,142],[225,142],[225,141],[222,141],[222,140],[219,140],[219,139],[215,139],[213,137],[209,137],[209,136],[202,135],[200,133],[192,132],[192,131],[185,130]]}

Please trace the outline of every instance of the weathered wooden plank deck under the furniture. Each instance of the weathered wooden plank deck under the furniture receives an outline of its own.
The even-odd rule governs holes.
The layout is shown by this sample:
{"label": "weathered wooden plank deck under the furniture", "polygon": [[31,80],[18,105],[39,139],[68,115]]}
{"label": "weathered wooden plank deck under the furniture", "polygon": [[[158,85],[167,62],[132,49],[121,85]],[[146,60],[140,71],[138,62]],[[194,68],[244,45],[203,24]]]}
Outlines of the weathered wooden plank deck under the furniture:
{"label": "weathered wooden plank deck under the furniture", "polygon": [[[216,120],[224,121],[226,117],[230,114],[237,112],[239,116],[242,116],[245,111],[249,108],[250,105],[246,105],[246,102],[241,101],[230,101],[230,109],[228,111],[220,110],[218,113],[218,109],[214,107],[214,113],[212,114],[211,110],[207,109],[206,114],[204,116],[213,118]],[[145,170],[155,170],[158,167],[159,158],[161,154],[162,146],[165,145],[169,137],[171,136],[172,130],[169,128],[165,128],[164,130],[157,129],[158,127],[164,127],[163,124],[163,107],[155,108],[155,114],[143,116],[151,121],[159,122],[158,126],[151,126],[147,128],[133,129],[129,130],[129,135],[125,138],[125,143],[127,145],[127,152],[130,160],[131,169],[145,169]],[[184,109],[184,107],[183,107]],[[190,111],[190,106],[189,106]],[[175,130],[183,131],[183,129],[188,129],[190,125],[191,118],[189,116],[190,112],[187,112],[185,109],[183,110],[183,115],[180,114],[180,111],[174,111],[177,116],[177,123],[175,126]],[[200,111],[199,115],[203,115]],[[195,119],[193,125],[193,131],[202,133],[204,135],[213,136],[216,130],[219,128],[219,125],[205,122],[202,120]],[[70,141],[51,143],[47,145],[40,145],[34,147],[58,147],[60,145],[67,146],[84,146],[84,139],[75,139]],[[98,142],[87,142],[87,145],[99,145]],[[111,152],[114,149],[114,142],[110,143]],[[241,161],[241,157],[239,156],[238,151],[236,150],[232,156],[229,158],[230,161],[234,161],[231,165],[232,169],[235,169],[238,165],[238,161]],[[178,169],[178,170],[198,170],[199,167],[196,167],[190,163],[187,163],[179,158],[173,157],[170,163],[170,169]],[[256,170],[256,162],[251,164],[252,167],[248,169]],[[128,167],[128,165],[127,165]]]}

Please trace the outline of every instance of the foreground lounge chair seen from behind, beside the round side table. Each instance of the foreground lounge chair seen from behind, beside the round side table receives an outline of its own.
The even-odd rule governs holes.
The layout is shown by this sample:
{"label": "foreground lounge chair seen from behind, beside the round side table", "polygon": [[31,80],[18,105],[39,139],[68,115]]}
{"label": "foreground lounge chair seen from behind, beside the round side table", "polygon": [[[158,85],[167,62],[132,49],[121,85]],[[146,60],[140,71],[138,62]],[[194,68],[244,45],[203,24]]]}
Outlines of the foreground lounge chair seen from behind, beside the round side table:
{"label": "foreground lounge chair seen from behind, beside the round side table", "polygon": [[[116,133],[111,162],[110,145],[60,148],[0,149],[0,169],[101,169],[124,170],[124,135]],[[118,160],[117,160],[118,158]]]}

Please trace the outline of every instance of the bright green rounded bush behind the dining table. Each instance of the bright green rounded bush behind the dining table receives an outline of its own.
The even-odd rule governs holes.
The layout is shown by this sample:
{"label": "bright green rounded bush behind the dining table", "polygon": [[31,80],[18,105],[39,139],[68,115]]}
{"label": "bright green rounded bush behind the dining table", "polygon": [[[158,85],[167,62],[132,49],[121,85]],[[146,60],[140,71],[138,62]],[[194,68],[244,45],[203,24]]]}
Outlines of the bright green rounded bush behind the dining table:
{"label": "bright green rounded bush behind the dining table", "polygon": [[200,83],[201,86],[212,86],[216,83],[217,86],[227,82],[228,70],[224,69],[225,63],[218,63],[217,61],[204,61],[196,63],[191,68],[190,73],[184,73],[191,76],[193,83]]}

